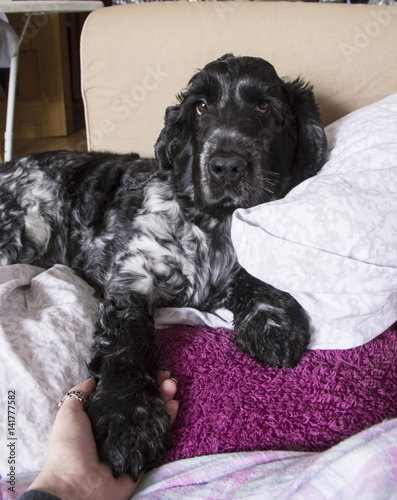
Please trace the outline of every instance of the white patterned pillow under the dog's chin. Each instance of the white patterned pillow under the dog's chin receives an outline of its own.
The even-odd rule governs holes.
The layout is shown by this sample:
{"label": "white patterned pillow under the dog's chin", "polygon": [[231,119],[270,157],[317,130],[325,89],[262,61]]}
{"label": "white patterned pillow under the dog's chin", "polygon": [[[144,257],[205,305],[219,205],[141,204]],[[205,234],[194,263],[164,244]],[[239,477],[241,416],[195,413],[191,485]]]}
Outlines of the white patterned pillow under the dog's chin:
{"label": "white patterned pillow under the dog's chin", "polygon": [[311,349],[362,345],[397,320],[397,94],[326,128],[323,169],[274,202],[237,210],[253,276],[309,313]]}

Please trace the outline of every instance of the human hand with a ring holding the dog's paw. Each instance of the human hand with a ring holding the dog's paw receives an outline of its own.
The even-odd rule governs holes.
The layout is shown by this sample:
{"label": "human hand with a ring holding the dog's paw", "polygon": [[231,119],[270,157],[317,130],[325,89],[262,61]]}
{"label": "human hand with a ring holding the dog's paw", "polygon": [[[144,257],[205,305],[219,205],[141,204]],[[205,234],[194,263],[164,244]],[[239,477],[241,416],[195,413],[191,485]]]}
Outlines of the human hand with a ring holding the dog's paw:
{"label": "human hand with a ring holding the dog's paw", "polygon": [[[178,403],[173,399],[176,384],[168,371],[159,371],[157,378],[172,425],[178,411]],[[89,378],[72,390],[89,396],[95,385],[95,380]],[[110,469],[99,462],[83,404],[76,398],[66,398],[51,431],[43,469],[29,489],[43,490],[62,500],[123,500],[130,498],[136,487],[129,476],[115,479]]]}

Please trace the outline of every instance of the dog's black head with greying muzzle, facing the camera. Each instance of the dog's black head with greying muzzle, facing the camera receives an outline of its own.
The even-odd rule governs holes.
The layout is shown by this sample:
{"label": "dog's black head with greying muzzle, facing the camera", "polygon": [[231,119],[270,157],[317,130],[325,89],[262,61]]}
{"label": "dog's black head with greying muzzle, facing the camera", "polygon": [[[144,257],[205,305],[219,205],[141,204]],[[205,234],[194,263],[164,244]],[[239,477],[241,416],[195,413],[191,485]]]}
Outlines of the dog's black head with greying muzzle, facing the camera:
{"label": "dog's black head with greying muzzle, facing the camera", "polygon": [[322,167],[326,149],[310,86],[227,54],[167,109],[156,157],[197,208],[222,216],[284,196]]}

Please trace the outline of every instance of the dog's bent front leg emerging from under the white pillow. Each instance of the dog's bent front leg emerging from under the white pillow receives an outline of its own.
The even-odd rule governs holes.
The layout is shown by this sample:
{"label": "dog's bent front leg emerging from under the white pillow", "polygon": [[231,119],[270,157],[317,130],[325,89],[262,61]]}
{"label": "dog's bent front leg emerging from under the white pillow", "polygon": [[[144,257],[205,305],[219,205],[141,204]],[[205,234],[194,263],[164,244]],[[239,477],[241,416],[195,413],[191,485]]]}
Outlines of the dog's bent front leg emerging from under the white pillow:
{"label": "dog's bent front leg emerging from under the white pillow", "polygon": [[240,269],[234,289],[234,342],[270,366],[292,367],[307,347],[309,319],[288,293]]}

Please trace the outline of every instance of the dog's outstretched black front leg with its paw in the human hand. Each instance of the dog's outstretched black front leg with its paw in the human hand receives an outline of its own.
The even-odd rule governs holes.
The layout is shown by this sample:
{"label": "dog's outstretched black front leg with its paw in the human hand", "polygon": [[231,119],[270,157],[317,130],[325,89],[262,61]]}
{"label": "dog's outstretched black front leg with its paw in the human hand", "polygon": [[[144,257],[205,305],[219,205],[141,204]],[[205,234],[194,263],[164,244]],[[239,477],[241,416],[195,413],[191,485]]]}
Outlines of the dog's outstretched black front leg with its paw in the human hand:
{"label": "dog's outstretched black front leg with its paw in the human hand", "polygon": [[146,299],[122,286],[109,287],[89,365],[98,380],[85,408],[101,461],[117,476],[136,481],[167,449],[170,418],[158,384],[153,319]]}

